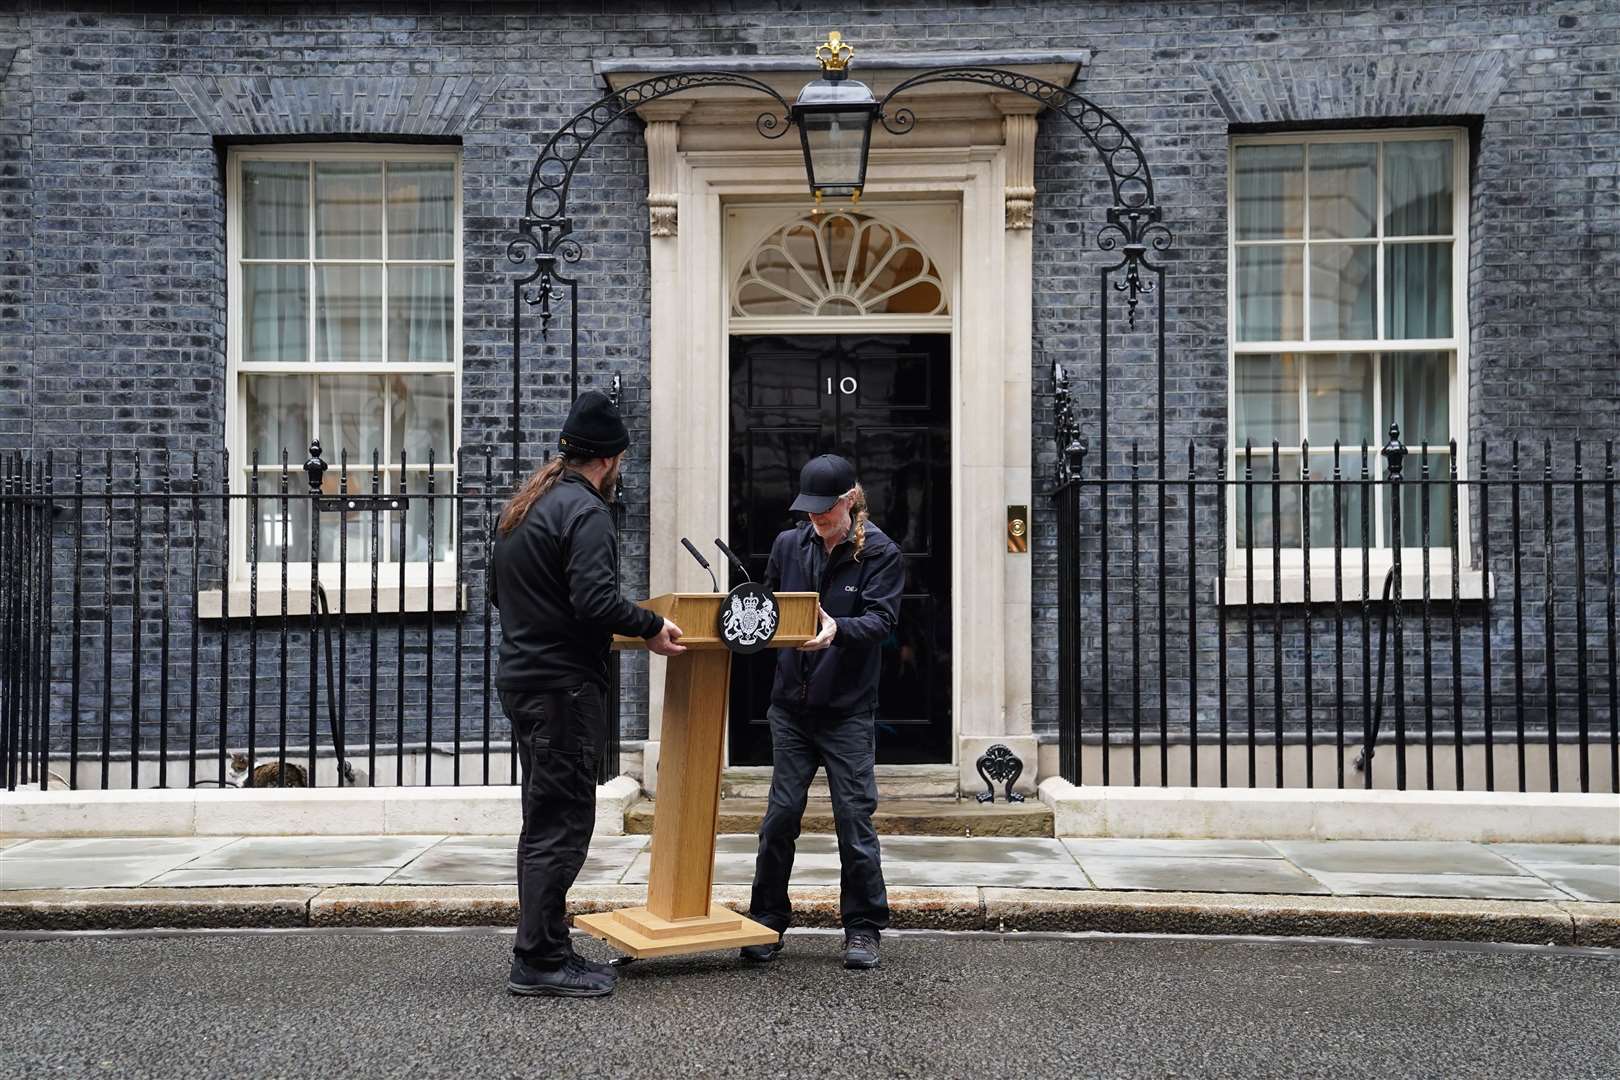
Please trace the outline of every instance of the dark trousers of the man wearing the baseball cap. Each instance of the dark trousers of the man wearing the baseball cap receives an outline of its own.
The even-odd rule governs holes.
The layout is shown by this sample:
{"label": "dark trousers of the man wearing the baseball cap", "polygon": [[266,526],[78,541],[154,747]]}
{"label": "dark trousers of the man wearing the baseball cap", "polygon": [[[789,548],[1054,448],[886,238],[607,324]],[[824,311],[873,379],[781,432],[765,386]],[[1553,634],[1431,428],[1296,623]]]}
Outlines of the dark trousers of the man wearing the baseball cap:
{"label": "dark trousers of the man wearing the baseball cap", "polygon": [[876,717],[854,714],[795,714],[771,706],[771,798],[760,823],[760,853],[753,863],[748,916],[771,929],[792,923],[787,879],[794,844],[804,821],[810,780],[826,767],[838,829],[839,913],[844,929],[881,931],[889,925],[889,895],[883,886],[883,853],[872,814],[878,808]]}

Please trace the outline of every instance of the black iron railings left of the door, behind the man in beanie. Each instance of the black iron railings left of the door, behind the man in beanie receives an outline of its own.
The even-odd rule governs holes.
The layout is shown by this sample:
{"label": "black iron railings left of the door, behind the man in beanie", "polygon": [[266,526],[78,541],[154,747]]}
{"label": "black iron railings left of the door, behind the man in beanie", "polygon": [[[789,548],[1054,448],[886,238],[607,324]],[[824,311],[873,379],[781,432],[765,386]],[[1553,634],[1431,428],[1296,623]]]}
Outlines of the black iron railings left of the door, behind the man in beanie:
{"label": "black iron railings left of the door, behind the man in beanie", "polygon": [[[509,784],[489,453],[0,460],[5,787]],[[620,767],[619,664],[599,776]]]}

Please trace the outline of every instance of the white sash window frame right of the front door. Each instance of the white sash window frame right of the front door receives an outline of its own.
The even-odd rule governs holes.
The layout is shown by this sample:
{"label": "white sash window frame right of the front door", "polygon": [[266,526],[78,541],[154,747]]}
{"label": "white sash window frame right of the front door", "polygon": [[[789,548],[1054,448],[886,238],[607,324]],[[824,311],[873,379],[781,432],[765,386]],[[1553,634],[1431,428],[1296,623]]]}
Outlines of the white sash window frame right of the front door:
{"label": "white sash window frame right of the front door", "polygon": [[[1452,243],[1452,335],[1448,338],[1411,338],[1411,340],[1395,340],[1383,338],[1385,330],[1385,296],[1383,296],[1383,257],[1382,249],[1387,243],[1383,235],[1383,147],[1390,142],[1400,141],[1437,141],[1450,139],[1453,144],[1452,152],[1452,235],[1450,236],[1401,236],[1400,243],[1418,243],[1418,241],[1450,241]],[[1333,144],[1333,142],[1377,142],[1379,146],[1379,176],[1377,176],[1377,206],[1374,210],[1374,235],[1364,240],[1332,240],[1332,243],[1356,243],[1356,244],[1377,244],[1379,257],[1375,259],[1375,306],[1374,306],[1374,330],[1379,338],[1359,340],[1312,340],[1311,338],[1311,259],[1302,259],[1302,283],[1301,295],[1304,303],[1304,311],[1301,313],[1301,334],[1302,340],[1273,340],[1273,342],[1239,342],[1238,340],[1238,249],[1239,248],[1259,248],[1259,246],[1307,246],[1311,238],[1311,201],[1306,198],[1304,206],[1304,223],[1302,232],[1298,240],[1254,240],[1239,241],[1238,240],[1238,170],[1236,170],[1236,151],[1241,146],[1306,146],[1306,175],[1309,175],[1309,146],[1312,144]],[[1469,186],[1468,186],[1468,170],[1469,170],[1469,138],[1468,131],[1463,128],[1366,128],[1366,130],[1348,130],[1348,131],[1293,131],[1281,134],[1243,134],[1231,136],[1230,144],[1231,154],[1228,157],[1228,183],[1226,183],[1226,478],[1228,481],[1243,479],[1243,444],[1238,440],[1238,356],[1243,355],[1277,355],[1277,353],[1371,353],[1374,356],[1372,363],[1372,405],[1375,416],[1375,442],[1369,445],[1369,457],[1372,466],[1372,476],[1383,476],[1383,457],[1379,453],[1388,437],[1388,418],[1382,416],[1383,398],[1382,398],[1382,368],[1379,363],[1379,355],[1382,353],[1450,353],[1452,369],[1450,369],[1450,389],[1448,389],[1448,413],[1452,421],[1452,429],[1456,431],[1456,470],[1458,476],[1468,476],[1468,210],[1469,210]],[[1309,379],[1299,381],[1301,393],[1301,434],[1304,434],[1306,423],[1306,395],[1309,390]],[[1382,431],[1377,427],[1382,424]],[[1409,481],[1418,481],[1422,468],[1422,455],[1419,453],[1419,445],[1409,442],[1411,432],[1401,432],[1401,442],[1408,447],[1409,455],[1405,461],[1403,476]],[[1332,484],[1332,457],[1319,455],[1319,450],[1330,450],[1330,447],[1312,447],[1312,486],[1322,481],[1322,487],[1328,489]],[[1430,453],[1448,452],[1445,444],[1430,445]],[[1272,474],[1272,449],[1267,445],[1254,447],[1254,470],[1256,470],[1256,510],[1262,505],[1270,510],[1270,474]],[[1327,463],[1327,468],[1317,470],[1317,461]],[[1440,458],[1443,460],[1443,457]],[[1280,447],[1280,473],[1285,481],[1296,481],[1299,478],[1299,447]],[[1361,478],[1361,447],[1343,447],[1340,453],[1341,476],[1346,481],[1359,481]],[[1439,476],[1430,474],[1434,479],[1447,479],[1448,473]],[[1262,483],[1265,481],[1265,483]],[[1241,484],[1228,486],[1228,505],[1226,505],[1226,604],[1244,604],[1246,602],[1246,585],[1247,585],[1247,547],[1238,544],[1238,525],[1239,515],[1244,510],[1243,489]],[[1264,500],[1264,504],[1262,504]],[[1374,597],[1382,594],[1383,578],[1393,567],[1393,552],[1388,546],[1382,546],[1382,536],[1385,529],[1385,512],[1383,500],[1375,499],[1372,507],[1372,538],[1367,544],[1367,570],[1369,570],[1369,588]],[[1301,502],[1301,512],[1307,513],[1309,508]],[[1346,525],[1345,531],[1349,531],[1348,515],[1351,513],[1351,504],[1345,502]],[[1477,570],[1471,570],[1469,551],[1469,491],[1466,484],[1460,486],[1458,491],[1458,552],[1456,563],[1461,567],[1456,575],[1456,589],[1460,599],[1474,599],[1484,594],[1489,588],[1489,581]],[[1356,512],[1359,525],[1359,512]],[[1405,525],[1405,523],[1403,523]],[[1450,518],[1440,521],[1430,518],[1430,544],[1429,544],[1429,565],[1430,565],[1430,596],[1439,599],[1448,599],[1453,588],[1453,552],[1450,549]],[[1311,538],[1311,599],[1312,602],[1332,602],[1333,601],[1333,546],[1332,533],[1325,538],[1312,534]],[[1254,602],[1270,604],[1273,599],[1273,551],[1270,544],[1256,546],[1254,549]],[[1361,599],[1361,580],[1362,580],[1362,559],[1361,544],[1351,546],[1345,544],[1343,551],[1343,596],[1346,601]],[[1281,578],[1277,583],[1277,591],[1280,593],[1283,602],[1299,602],[1304,599],[1304,552],[1301,547],[1281,547]],[[1401,593],[1405,597],[1413,599],[1421,596],[1422,588],[1422,557],[1424,549],[1401,546]]]}

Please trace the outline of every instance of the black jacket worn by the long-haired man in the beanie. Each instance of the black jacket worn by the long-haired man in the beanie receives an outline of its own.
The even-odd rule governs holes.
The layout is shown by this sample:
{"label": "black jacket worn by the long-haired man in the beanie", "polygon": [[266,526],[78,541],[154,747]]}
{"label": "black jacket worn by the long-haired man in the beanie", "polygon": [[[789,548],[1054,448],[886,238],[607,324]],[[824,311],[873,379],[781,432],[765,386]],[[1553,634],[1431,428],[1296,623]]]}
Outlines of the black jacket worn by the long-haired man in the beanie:
{"label": "black jacket worn by the long-haired man in the beanie", "polygon": [[608,502],[572,471],[496,538],[489,597],[501,609],[501,690],[606,688],[612,635],[651,638],[664,627],[619,594]]}

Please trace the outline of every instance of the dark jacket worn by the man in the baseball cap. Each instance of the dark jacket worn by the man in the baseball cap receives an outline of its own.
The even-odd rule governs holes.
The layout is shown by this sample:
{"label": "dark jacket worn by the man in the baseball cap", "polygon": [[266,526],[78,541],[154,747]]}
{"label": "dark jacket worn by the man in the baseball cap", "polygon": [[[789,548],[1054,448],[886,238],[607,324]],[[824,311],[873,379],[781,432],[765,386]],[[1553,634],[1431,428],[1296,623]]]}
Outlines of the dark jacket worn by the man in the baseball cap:
{"label": "dark jacket worn by the man in the baseball cap", "polygon": [[771,704],[791,712],[867,712],[878,708],[883,644],[901,620],[906,568],[901,549],[867,521],[867,541],[844,541],[826,551],[808,521],[771,544],[765,588],[773,593],[820,593],[821,609],[838,622],[831,648],[818,653],[776,651]]}

